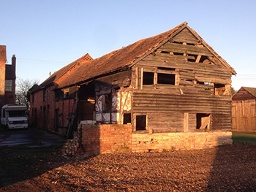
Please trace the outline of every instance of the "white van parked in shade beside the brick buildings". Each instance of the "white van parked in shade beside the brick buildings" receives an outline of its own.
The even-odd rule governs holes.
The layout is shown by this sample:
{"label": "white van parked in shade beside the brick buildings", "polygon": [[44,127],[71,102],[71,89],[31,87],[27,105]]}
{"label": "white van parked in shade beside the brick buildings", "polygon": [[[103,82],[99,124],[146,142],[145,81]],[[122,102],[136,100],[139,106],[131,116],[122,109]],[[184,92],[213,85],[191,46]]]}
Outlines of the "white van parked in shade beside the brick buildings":
{"label": "white van parked in shade beside the brick buildings", "polygon": [[28,128],[26,105],[5,104],[1,107],[1,124],[9,129]]}

